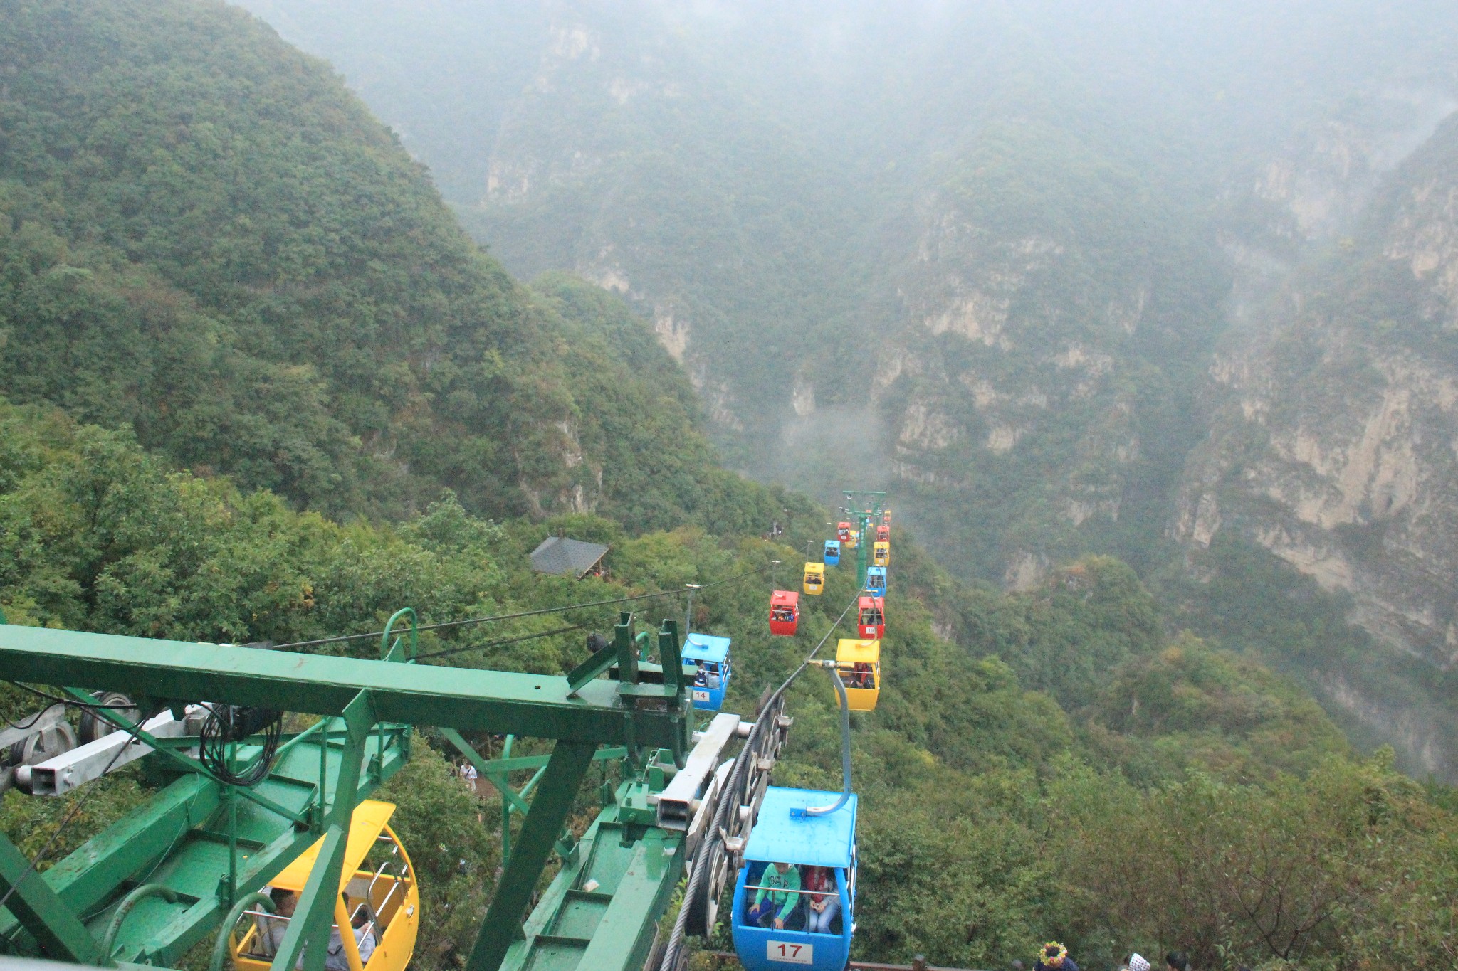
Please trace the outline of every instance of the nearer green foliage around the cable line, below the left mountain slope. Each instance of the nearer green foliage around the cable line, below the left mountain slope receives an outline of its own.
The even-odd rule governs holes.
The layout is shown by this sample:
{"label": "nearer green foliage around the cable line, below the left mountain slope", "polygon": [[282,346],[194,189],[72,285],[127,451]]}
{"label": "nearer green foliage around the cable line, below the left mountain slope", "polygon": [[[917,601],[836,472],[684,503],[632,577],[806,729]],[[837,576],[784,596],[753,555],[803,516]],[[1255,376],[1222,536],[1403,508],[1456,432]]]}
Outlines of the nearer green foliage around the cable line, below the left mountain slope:
{"label": "nearer green foliage around the cable line, below the left mountain slope", "polygon": [[[372,629],[407,603],[446,620],[742,578],[697,598],[694,625],[733,638],[728,708],[749,710],[854,592],[846,571],[831,571],[827,594],[806,600],[802,633],[771,638],[771,560],[795,553],[757,536],[688,524],[630,533],[588,515],[493,524],[452,494],[398,526],[341,526],[172,472],[125,432],[54,409],[0,406],[0,607],[17,623],[293,641]],[[805,518],[812,530],[816,518]],[[611,579],[531,574],[526,553],[554,528],[611,543]],[[1381,758],[1354,761],[1309,697],[1248,658],[1190,635],[1168,642],[1153,598],[1117,560],[990,594],[961,588],[905,536],[897,547],[886,683],[878,710],[854,719],[857,954],[999,967],[1060,938],[1092,967],[1184,946],[1197,967],[1280,958],[1336,970],[1451,948],[1439,889],[1458,872],[1449,790],[1417,786]],[[642,622],[681,609],[671,597]],[[614,620],[611,609],[566,616],[604,630]],[[582,657],[580,630],[499,642],[558,625],[426,633],[421,649],[458,651],[433,662],[557,673]],[[367,655],[373,645],[318,649]],[[32,708],[15,691],[3,702],[10,718]],[[790,706],[776,780],[835,788],[830,686],[802,677]],[[399,805],[424,884],[426,970],[464,961],[499,860],[499,812],[449,773],[446,753],[426,732],[379,793]],[[139,779],[128,770],[101,783],[60,849],[144,799]],[[12,792],[0,825],[34,852],[70,805]],[[1266,887],[1289,903],[1263,898]]]}

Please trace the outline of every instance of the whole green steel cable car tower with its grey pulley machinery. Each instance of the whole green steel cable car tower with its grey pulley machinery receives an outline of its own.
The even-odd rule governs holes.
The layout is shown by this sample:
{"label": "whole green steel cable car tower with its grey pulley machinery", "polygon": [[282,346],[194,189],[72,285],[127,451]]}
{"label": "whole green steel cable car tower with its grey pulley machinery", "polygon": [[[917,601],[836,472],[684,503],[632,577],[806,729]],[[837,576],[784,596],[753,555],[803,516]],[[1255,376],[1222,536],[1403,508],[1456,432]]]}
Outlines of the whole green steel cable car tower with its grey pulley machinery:
{"label": "whole green steel cable car tower with its grey pulley machinery", "polygon": [[[284,920],[268,916],[274,905],[260,892],[278,881],[302,892],[268,967],[321,971],[331,924],[346,926],[341,888],[351,887],[354,907],[383,897],[389,882],[356,871],[359,814],[388,809],[366,798],[408,758],[411,728],[429,725],[472,761],[480,756],[461,732],[553,742],[550,754],[484,766],[502,777],[537,774],[531,802],[500,788],[523,823],[467,971],[639,971],[653,964],[658,920],[710,823],[716,839],[746,833],[789,728],[781,702],[754,724],[725,713],[695,732],[695,668],[682,657],[678,620],[656,632],[656,662],[639,649],[649,639],[621,614],[609,648],[553,677],[418,664],[410,609],[386,625],[378,659],[22,627],[0,616],[0,678],[64,686],[66,703],[121,728],[92,742],[112,753],[109,761],[98,764],[90,745],[63,753],[83,776],[77,785],[124,754],[144,756],[159,783],[149,802],[45,872],[0,834],[0,955],[130,971],[175,967],[194,945],[213,942],[219,971],[252,933],[239,922]],[[125,693],[127,705],[93,691]],[[220,761],[190,754],[200,737],[187,724],[198,709],[236,728]],[[283,712],[319,721],[289,737],[277,728]],[[745,737],[732,764],[746,772],[730,777],[723,758]],[[598,821],[573,840],[564,824],[589,767],[604,758],[621,763],[621,782],[605,788]],[[39,779],[45,764],[34,769]],[[561,872],[523,927],[554,852]],[[408,857],[401,862],[398,879],[413,887]],[[703,881],[709,926],[723,879]],[[357,892],[354,882],[379,892]],[[386,930],[369,964],[389,949]],[[353,967],[359,954],[346,952]]]}

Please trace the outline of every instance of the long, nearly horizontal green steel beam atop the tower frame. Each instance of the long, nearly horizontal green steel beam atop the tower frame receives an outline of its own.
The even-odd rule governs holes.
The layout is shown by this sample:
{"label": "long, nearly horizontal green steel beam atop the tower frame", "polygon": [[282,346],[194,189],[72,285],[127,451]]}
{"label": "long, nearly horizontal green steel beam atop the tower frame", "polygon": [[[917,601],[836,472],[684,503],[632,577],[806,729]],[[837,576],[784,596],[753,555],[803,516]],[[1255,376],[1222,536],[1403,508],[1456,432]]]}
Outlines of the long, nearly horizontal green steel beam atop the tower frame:
{"label": "long, nearly horizontal green steel beam atop the tower frame", "polygon": [[[674,632],[677,655],[677,623],[665,627]],[[675,670],[665,680],[672,683]],[[617,745],[684,748],[693,731],[682,693],[666,710],[634,710],[630,725],[620,686],[631,686],[621,681],[590,681],[572,696],[563,677],[9,625],[0,627],[0,678],[315,715],[337,715],[369,691],[381,721]]]}

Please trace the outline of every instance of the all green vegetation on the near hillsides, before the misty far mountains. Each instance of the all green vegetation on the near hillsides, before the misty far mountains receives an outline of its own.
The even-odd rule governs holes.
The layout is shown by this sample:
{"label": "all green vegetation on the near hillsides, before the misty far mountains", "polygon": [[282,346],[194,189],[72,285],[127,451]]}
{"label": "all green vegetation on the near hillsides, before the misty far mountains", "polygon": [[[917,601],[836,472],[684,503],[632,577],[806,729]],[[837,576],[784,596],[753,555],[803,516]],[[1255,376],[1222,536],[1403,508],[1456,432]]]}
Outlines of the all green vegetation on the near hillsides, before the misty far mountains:
{"label": "all green vegetation on the near hillsides, before the misty far mountains", "polygon": [[[703,376],[628,304],[513,281],[324,64],[220,3],[0,0],[0,336],[10,623],[295,645],[402,606],[445,622],[672,594],[640,610],[656,627],[685,584],[733,579],[693,626],[733,638],[726,706],[748,713],[857,592],[831,571],[800,633],[771,638],[767,592],[830,510],[720,469]],[[764,539],[774,520],[790,528]],[[531,572],[557,530],[609,543],[608,578]],[[1091,968],[1177,946],[1201,968],[1458,959],[1451,789],[1356,756],[1295,683],[1175,630],[1120,559],[1000,592],[900,520],[895,542],[885,687],[853,724],[857,956],[1003,967],[1056,938]],[[1290,633],[1268,604],[1242,617]],[[560,673],[614,620],[420,649]],[[837,788],[830,684],[809,671],[789,703],[776,780]],[[0,708],[34,703],[0,686]],[[500,860],[499,814],[448,767],[423,729],[381,793],[423,884],[420,971],[462,967]],[[60,852],[147,798],[133,770],[93,790]],[[77,798],[7,792],[0,828],[35,853]],[[585,789],[573,825],[596,806]]]}

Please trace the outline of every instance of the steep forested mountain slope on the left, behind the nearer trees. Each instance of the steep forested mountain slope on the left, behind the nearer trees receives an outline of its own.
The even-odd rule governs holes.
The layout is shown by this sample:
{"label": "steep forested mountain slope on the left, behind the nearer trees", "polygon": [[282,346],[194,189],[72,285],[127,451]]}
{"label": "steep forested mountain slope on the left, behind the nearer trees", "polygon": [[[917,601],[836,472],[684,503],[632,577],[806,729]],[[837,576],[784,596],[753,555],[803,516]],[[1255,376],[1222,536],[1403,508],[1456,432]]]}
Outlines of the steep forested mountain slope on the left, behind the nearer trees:
{"label": "steep forested mountain slope on the left, behind the nearer trees", "polygon": [[[0,3],[0,387],[334,514],[611,508],[732,476],[640,322],[535,293],[330,68],[222,3]],[[732,512],[729,512],[732,510]],[[748,521],[746,518],[746,521]]]}

